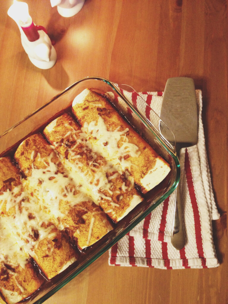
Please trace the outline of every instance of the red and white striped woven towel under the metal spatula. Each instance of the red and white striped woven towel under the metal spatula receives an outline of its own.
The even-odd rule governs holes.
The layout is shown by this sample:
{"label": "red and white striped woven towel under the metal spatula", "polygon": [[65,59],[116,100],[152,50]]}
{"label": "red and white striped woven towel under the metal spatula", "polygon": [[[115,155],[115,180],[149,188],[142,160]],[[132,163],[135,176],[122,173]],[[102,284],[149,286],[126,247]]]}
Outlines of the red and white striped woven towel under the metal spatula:
{"label": "red and white striped woven towel under the metal spatula", "polygon": [[[141,98],[129,93],[132,103],[141,107]],[[162,92],[139,93],[146,101],[145,115],[160,113]],[[219,266],[212,238],[212,220],[219,219],[206,155],[202,125],[202,92],[196,90],[199,113],[197,145],[181,150],[181,197],[185,227],[185,247],[171,245],[174,211],[173,192],[141,223],[109,249],[109,265],[143,266],[161,269],[210,268]],[[151,120],[152,121],[152,120]]]}

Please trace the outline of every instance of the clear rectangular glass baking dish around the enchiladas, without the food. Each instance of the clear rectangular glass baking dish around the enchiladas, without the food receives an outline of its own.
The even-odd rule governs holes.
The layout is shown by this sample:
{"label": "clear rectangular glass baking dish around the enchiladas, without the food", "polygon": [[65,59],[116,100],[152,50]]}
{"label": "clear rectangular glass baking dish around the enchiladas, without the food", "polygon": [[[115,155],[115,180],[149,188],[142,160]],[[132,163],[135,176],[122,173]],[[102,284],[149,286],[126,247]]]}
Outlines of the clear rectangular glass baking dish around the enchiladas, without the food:
{"label": "clear rectangular glass baking dish around the enchiladas, without the food", "polygon": [[[171,171],[159,185],[145,195],[143,202],[117,224],[114,224],[113,230],[92,246],[87,247],[80,254],[78,261],[44,283],[39,290],[27,299],[26,303],[43,303],[71,281],[163,202],[174,191],[180,179],[180,164],[175,153],[175,138],[172,132],[152,109],[149,109],[150,120],[152,121],[147,119],[145,109],[148,112],[149,107],[131,87],[118,85],[101,77],[87,77],[75,82],[40,109],[2,133],[0,135],[0,157],[8,154],[13,155],[22,140],[33,133],[42,131],[50,121],[63,112],[69,112],[74,97],[85,88],[108,96],[118,112],[170,164]],[[137,98],[136,104],[132,103],[132,93]],[[169,140],[166,138],[169,138]]]}

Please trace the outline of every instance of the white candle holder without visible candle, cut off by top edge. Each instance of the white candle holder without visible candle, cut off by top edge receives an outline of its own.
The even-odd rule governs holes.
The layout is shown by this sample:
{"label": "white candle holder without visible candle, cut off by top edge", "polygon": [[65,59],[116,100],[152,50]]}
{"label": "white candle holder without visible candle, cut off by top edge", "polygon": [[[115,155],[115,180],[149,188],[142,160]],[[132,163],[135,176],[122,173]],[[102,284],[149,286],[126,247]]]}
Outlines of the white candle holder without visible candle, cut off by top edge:
{"label": "white candle holder without visible candle, cut off by top edge", "polygon": [[51,6],[57,6],[57,11],[63,17],[76,15],[83,7],[85,0],[50,0]]}

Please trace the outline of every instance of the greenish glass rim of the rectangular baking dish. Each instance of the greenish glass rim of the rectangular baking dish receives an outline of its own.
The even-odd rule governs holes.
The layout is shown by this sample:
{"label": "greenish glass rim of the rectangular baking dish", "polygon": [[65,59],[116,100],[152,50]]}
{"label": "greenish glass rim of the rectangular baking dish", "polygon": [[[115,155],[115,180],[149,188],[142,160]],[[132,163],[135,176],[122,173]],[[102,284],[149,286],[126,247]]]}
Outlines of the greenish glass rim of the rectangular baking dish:
{"label": "greenish glass rim of the rectangular baking dish", "polygon": [[[100,257],[102,254],[104,254],[109,248],[111,248],[114,244],[116,244],[116,242],[118,242],[124,235],[126,235],[126,233],[128,233],[130,230],[132,230],[133,227],[135,227],[138,223],[140,223],[148,214],[150,214],[150,212],[152,212],[158,205],[160,205],[161,202],[163,202],[177,187],[179,180],[180,180],[180,163],[178,160],[178,157],[175,153],[175,146],[174,146],[174,150],[170,149],[167,147],[167,143],[164,142],[164,139],[161,139],[160,137],[157,136],[156,132],[154,132],[151,129],[151,126],[149,126],[149,124],[147,123],[147,121],[140,115],[140,113],[134,108],[133,105],[131,105],[129,103],[129,101],[127,100],[127,98],[122,94],[121,90],[120,90],[120,86],[117,83],[114,83],[112,81],[109,81],[108,79],[102,78],[102,77],[97,77],[97,76],[88,76],[85,78],[81,78],[78,81],[74,82],[72,85],[68,86],[67,88],[65,88],[62,92],[58,93],[57,95],[55,95],[53,98],[51,98],[48,102],[46,102],[44,105],[42,105],[41,107],[39,107],[38,109],[36,109],[35,111],[31,112],[29,115],[25,116],[23,119],[21,119],[19,122],[15,123],[14,125],[12,125],[9,129],[7,129],[6,131],[4,131],[2,134],[0,134],[0,139],[7,133],[9,133],[10,131],[12,131],[13,129],[15,129],[18,125],[20,125],[21,123],[23,123],[24,121],[26,121],[27,119],[29,119],[31,116],[33,116],[34,114],[36,114],[37,112],[39,112],[41,109],[44,109],[45,107],[47,107],[49,104],[51,104],[52,102],[54,102],[57,98],[59,98],[60,96],[64,95],[65,93],[67,93],[69,90],[71,90],[71,88],[74,88],[74,86],[78,85],[80,82],[85,81],[85,80],[98,80],[98,81],[104,81],[107,85],[109,85],[116,93],[117,95],[119,95],[126,103],[127,105],[131,108],[131,110],[139,117],[140,120],[143,121],[144,124],[147,125],[147,127],[150,129],[151,132],[154,133],[154,136],[156,136],[156,138],[161,142],[161,144],[163,145],[163,147],[168,151],[169,154],[171,154],[174,163],[176,165],[176,178],[174,180],[173,185],[171,186],[171,188],[164,194],[162,195],[152,206],[148,207],[137,219],[134,219],[133,223],[131,223],[131,225],[129,225],[128,227],[126,227],[125,229],[123,229],[121,231],[121,233],[119,233],[119,235],[117,235],[116,237],[114,237],[111,241],[109,241],[108,244],[105,244],[104,247],[102,247],[99,252],[95,255],[92,256],[90,259],[88,259],[83,265],[81,265],[79,268],[77,268],[73,273],[71,273],[71,275],[69,275],[67,278],[65,278],[63,280],[63,282],[58,283],[57,285],[53,286],[52,289],[50,289],[46,294],[42,295],[40,297],[40,299],[37,299],[35,302],[33,302],[33,304],[41,304],[44,301],[46,301],[48,298],[50,298],[50,296],[52,296],[55,292],[57,292],[59,289],[61,289],[63,286],[65,286],[68,282],[70,282],[73,278],[75,278],[78,274],[81,273],[81,271],[83,271],[85,268],[87,268],[90,264],[92,264],[96,259],[98,259],[98,257]],[[131,88],[134,92],[136,92],[132,87],[130,87],[129,85],[126,85],[129,88]],[[136,92],[137,93],[137,92]],[[137,93],[138,94],[138,93]],[[139,95],[140,96],[140,95]],[[141,97],[141,96],[140,96]],[[142,97],[141,97],[142,98]],[[142,98],[143,100],[143,98]],[[144,101],[145,102],[145,101]],[[150,108],[151,109],[151,108]],[[154,110],[151,109],[153,112]],[[155,112],[154,112],[155,113]],[[155,113],[156,116],[157,113]],[[159,117],[159,116],[158,116]],[[152,123],[151,123],[152,125]],[[153,125],[152,125],[153,126]],[[160,134],[161,135],[161,134]],[[28,302],[29,303],[29,302]]]}

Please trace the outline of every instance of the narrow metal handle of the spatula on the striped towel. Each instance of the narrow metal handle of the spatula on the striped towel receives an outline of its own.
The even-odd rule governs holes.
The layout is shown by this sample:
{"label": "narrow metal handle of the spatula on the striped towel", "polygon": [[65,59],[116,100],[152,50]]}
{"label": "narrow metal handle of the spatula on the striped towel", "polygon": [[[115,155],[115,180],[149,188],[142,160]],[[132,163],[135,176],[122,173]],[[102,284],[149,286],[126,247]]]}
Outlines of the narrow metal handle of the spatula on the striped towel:
{"label": "narrow metal handle of the spatula on the striped towel", "polygon": [[185,246],[180,183],[176,188],[171,243],[178,250],[181,250]]}

